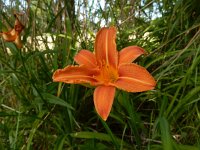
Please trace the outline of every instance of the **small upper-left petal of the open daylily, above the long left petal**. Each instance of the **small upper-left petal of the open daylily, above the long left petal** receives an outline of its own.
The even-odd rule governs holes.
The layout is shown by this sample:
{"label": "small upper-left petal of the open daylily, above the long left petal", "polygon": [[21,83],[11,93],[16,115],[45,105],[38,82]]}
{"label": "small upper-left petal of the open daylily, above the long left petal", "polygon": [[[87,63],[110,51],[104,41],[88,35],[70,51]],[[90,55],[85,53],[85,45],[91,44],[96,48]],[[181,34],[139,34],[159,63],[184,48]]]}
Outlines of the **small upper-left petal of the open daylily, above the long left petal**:
{"label": "small upper-left petal of the open daylily, above the long left petal", "polygon": [[81,50],[75,57],[74,60],[79,65],[85,65],[86,67],[96,68],[97,62],[94,54],[88,50]]}

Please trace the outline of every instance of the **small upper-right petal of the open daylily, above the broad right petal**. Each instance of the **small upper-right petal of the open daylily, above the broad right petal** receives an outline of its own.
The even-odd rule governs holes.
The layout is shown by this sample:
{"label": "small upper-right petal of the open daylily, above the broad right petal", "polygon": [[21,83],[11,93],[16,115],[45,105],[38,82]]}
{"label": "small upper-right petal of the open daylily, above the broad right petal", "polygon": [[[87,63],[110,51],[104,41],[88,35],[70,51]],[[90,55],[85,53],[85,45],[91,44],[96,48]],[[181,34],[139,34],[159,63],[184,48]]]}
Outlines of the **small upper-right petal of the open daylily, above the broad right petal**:
{"label": "small upper-right petal of the open daylily, above the broad right petal", "polygon": [[140,55],[144,53],[145,53],[145,50],[138,46],[129,46],[129,47],[123,48],[119,52],[119,64],[131,63],[137,57],[139,57]]}

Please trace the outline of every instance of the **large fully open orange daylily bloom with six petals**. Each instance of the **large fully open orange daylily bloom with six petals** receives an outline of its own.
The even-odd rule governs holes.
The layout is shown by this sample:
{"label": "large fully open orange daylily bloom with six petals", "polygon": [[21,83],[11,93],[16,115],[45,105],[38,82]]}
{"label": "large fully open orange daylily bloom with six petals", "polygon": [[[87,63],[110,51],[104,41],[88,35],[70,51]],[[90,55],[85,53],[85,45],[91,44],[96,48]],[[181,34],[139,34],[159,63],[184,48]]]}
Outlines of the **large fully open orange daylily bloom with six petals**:
{"label": "large fully open orange daylily bloom with six petals", "polygon": [[132,63],[145,51],[138,46],[129,46],[118,52],[115,39],[115,27],[100,29],[95,39],[94,53],[81,50],[74,57],[79,66],[67,66],[53,74],[55,82],[95,86],[94,105],[103,120],[107,120],[111,111],[116,88],[142,92],[152,90],[156,85],[145,68]]}

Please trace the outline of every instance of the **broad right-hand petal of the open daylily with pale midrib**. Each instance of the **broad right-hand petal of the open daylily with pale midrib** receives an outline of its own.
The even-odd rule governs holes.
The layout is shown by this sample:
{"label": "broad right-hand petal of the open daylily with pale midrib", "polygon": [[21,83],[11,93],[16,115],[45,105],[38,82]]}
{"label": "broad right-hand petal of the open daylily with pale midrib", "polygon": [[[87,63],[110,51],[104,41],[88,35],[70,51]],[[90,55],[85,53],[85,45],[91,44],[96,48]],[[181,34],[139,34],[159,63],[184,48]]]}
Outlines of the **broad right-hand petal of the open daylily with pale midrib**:
{"label": "broad right-hand petal of the open daylily with pale midrib", "polygon": [[156,81],[144,67],[124,64],[119,67],[119,78],[115,86],[128,92],[142,92],[154,89]]}

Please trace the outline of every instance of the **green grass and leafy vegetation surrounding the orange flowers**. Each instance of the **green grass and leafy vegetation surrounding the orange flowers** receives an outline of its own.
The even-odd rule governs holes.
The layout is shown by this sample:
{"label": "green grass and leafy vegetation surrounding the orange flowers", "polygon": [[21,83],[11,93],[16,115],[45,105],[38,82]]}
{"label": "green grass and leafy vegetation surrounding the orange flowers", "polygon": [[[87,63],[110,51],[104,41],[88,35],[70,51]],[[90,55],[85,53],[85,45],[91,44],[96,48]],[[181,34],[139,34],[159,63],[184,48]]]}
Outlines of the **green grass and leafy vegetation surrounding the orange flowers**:
{"label": "green grass and leafy vegetation surrounding the orange flowers", "polygon": [[[0,150],[200,149],[199,0],[0,0],[0,30],[25,29],[23,48],[0,39]],[[116,26],[117,48],[143,47],[136,60],[155,90],[117,91],[107,122],[93,89],[53,83],[58,68],[97,31]]]}

